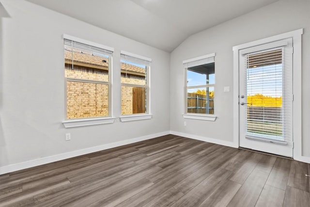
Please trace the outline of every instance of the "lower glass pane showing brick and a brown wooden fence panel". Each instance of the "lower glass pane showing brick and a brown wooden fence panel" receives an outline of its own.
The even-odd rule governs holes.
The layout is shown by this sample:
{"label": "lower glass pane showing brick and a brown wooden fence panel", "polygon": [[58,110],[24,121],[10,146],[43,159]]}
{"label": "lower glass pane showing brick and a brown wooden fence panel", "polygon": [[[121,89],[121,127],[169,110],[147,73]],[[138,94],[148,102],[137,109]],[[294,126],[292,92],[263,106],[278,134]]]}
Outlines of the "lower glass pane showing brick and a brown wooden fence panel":
{"label": "lower glass pane showing brick and a brown wooden fence panel", "polygon": [[122,86],[122,115],[146,113],[146,88]]}

